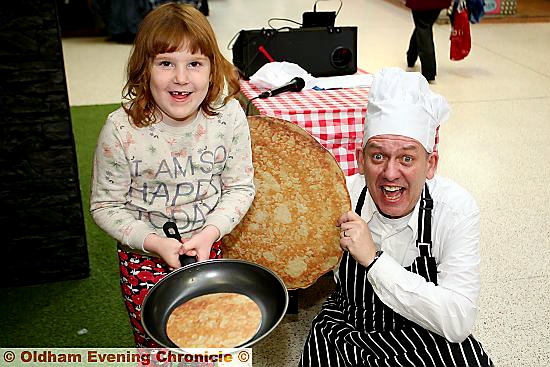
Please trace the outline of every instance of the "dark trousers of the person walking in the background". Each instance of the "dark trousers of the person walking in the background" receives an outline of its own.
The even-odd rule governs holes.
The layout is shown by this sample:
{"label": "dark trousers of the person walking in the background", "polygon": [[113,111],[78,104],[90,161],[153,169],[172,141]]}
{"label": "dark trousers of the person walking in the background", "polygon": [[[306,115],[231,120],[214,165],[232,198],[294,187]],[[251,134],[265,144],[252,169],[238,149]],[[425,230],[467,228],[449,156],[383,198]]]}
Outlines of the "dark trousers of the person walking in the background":
{"label": "dark trousers of the person walking in the background", "polygon": [[434,80],[436,75],[435,47],[433,25],[441,9],[412,10],[414,31],[407,51],[407,65],[413,67],[420,58],[422,75],[427,80]]}

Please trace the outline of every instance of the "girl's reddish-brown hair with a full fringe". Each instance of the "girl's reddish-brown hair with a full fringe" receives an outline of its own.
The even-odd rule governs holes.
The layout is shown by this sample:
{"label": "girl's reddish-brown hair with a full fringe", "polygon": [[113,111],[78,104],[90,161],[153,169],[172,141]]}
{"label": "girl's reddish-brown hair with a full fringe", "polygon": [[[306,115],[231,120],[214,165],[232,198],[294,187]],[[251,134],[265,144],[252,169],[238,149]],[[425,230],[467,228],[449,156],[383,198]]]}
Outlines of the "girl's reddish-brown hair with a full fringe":
{"label": "girl's reddish-brown hair with a full fringe", "polygon": [[157,106],[149,87],[153,60],[158,54],[181,49],[210,60],[210,85],[200,105],[205,114],[216,115],[219,103],[227,103],[239,92],[237,69],[221,54],[206,17],[191,5],[161,5],[141,22],[126,70],[123,98],[127,103],[122,106],[137,127],[157,122]]}

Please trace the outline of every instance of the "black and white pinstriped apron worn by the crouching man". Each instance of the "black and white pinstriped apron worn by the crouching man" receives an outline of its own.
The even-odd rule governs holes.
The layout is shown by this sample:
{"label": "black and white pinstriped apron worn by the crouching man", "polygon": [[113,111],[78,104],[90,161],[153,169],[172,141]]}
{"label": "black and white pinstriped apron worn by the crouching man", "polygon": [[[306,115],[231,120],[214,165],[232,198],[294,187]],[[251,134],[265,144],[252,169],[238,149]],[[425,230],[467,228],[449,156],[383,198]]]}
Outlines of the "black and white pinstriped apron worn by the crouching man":
{"label": "black and white pinstriped apron worn by the crouching man", "polygon": [[[365,187],[355,209],[359,215],[366,194]],[[419,256],[405,269],[437,285],[431,253],[432,208],[426,185],[418,214]],[[462,343],[451,343],[393,312],[374,293],[367,271],[344,252],[336,291],[313,319],[300,366],[493,366],[472,335]]]}

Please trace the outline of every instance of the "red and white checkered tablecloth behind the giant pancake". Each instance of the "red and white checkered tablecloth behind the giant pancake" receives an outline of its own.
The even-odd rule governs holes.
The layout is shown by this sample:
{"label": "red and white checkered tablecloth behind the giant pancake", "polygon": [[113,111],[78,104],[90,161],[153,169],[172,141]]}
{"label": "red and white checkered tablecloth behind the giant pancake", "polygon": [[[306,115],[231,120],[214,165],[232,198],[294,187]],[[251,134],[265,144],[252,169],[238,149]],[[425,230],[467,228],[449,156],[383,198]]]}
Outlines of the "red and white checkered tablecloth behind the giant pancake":
{"label": "red and white checkered tablecloth behind the giant pancake", "polygon": [[[241,80],[241,90],[250,101],[264,90]],[[369,88],[303,90],[287,92],[252,104],[261,115],[297,124],[336,158],[344,173],[357,173],[355,148],[361,146]]]}

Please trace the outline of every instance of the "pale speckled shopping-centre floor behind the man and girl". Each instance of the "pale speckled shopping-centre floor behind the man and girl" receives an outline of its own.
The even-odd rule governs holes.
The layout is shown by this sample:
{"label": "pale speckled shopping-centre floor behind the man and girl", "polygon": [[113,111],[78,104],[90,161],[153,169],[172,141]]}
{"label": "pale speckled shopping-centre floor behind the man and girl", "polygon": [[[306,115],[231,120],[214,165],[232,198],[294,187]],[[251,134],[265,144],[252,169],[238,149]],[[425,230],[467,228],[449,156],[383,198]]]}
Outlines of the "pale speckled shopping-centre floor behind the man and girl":
{"label": "pale speckled shopping-centre floor behind the man and girl", "polygon": [[[519,0],[525,1],[525,0]],[[313,0],[210,0],[226,56],[241,29],[272,17],[301,20]],[[338,1],[319,2],[332,9]],[[346,0],[337,25],[359,27],[359,66],[405,67],[412,30],[406,9],[383,0]],[[276,24],[289,25],[285,22]],[[453,109],[441,128],[439,173],[468,188],[482,210],[482,296],[475,335],[499,367],[550,366],[550,23],[472,26],[472,52],[449,60],[449,25],[436,25],[437,84]],[[130,46],[102,38],[64,40],[72,105],[117,103]],[[330,278],[304,291],[254,347],[254,366],[295,365]]]}

